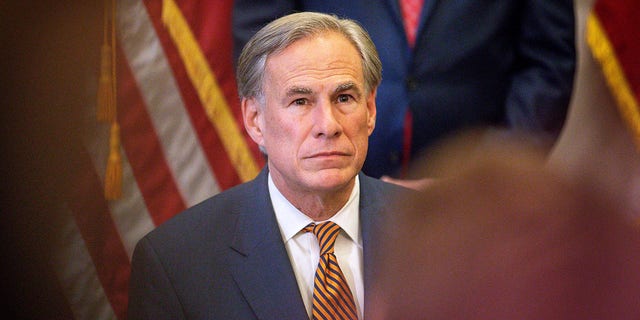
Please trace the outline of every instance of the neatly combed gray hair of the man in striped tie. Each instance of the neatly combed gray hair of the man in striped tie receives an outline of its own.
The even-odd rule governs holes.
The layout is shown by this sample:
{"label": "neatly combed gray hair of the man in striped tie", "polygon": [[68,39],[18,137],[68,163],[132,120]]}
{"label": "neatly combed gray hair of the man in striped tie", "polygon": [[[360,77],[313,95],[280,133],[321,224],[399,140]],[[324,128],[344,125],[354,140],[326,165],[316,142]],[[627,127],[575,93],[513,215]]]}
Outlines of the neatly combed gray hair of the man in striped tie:
{"label": "neatly combed gray hair of the man in striped tie", "polygon": [[267,58],[294,42],[324,32],[337,32],[360,53],[365,90],[370,93],[382,80],[382,63],[369,34],[354,20],[316,12],[293,13],[267,24],[242,49],[236,72],[241,98],[262,97]]}

